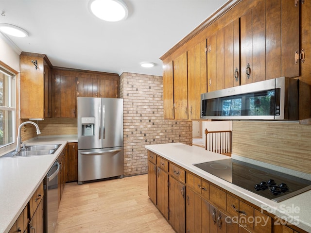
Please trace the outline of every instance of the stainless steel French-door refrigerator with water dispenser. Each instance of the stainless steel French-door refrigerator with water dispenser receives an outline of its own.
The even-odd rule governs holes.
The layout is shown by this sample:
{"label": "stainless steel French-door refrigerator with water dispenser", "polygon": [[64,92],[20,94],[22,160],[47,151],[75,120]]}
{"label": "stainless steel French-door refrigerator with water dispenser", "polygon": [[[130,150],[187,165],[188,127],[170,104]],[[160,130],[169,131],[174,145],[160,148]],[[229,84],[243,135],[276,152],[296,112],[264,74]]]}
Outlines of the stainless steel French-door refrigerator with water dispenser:
{"label": "stainless steel French-door refrigerator with water dispenser", "polygon": [[78,184],[120,177],[123,99],[78,97]]}

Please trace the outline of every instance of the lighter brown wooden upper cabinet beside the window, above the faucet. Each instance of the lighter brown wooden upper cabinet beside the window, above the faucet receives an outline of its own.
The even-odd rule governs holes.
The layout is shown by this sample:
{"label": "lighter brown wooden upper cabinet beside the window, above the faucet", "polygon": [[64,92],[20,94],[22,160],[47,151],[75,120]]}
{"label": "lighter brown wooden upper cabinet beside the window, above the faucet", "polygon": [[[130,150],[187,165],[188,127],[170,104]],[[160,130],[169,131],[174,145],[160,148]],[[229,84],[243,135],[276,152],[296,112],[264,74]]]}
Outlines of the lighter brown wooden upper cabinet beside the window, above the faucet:
{"label": "lighter brown wooden upper cabinet beside the window, above the faucet", "polygon": [[52,117],[52,64],[44,54],[20,54],[20,118]]}

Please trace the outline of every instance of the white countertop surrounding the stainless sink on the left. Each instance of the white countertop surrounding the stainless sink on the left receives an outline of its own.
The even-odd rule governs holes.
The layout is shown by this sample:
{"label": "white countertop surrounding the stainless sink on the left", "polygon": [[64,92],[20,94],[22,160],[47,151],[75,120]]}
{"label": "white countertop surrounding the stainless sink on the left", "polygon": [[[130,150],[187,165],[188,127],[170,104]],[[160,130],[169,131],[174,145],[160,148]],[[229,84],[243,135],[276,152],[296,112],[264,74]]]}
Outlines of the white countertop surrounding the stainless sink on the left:
{"label": "white countertop surrounding the stainless sink on the left", "polygon": [[0,158],[0,233],[10,230],[67,142],[77,142],[77,136],[46,136],[26,142],[62,144],[52,155]]}

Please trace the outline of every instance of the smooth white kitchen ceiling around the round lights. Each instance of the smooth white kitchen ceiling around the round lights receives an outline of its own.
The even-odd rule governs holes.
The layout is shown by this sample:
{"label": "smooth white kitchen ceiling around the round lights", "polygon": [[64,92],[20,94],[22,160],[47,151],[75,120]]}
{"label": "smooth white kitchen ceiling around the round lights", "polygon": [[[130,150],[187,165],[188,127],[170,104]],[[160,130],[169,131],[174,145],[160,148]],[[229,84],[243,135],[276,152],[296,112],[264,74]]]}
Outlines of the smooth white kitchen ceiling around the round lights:
{"label": "smooth white kitchen ceiling around the round lights", "polygon": [[[89,12],[88,0],[0,0],[0,22],[29,33],[0,36],[18,52],[47,54],[56,67],[162,76],[159,57],[227,0],[123,1],[128,18],[105,22]],[[156,66],[140,67],[144,61]]]}

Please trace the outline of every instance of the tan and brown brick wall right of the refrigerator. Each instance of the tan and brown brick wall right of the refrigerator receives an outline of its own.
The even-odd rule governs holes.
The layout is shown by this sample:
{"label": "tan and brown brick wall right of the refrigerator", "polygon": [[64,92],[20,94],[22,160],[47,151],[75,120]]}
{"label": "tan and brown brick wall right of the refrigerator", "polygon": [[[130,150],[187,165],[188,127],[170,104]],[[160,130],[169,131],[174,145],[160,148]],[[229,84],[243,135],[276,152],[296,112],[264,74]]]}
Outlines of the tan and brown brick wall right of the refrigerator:
{"label": "tan and brown brick wall right of the refrigerator", "polygon": [[122,73],[124,104],[124,175],[147,173],[145,145],[181,142],[192,145],[192,122],[163,118],[163,78]]}

